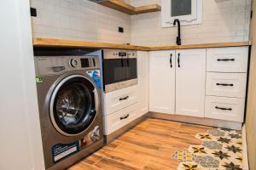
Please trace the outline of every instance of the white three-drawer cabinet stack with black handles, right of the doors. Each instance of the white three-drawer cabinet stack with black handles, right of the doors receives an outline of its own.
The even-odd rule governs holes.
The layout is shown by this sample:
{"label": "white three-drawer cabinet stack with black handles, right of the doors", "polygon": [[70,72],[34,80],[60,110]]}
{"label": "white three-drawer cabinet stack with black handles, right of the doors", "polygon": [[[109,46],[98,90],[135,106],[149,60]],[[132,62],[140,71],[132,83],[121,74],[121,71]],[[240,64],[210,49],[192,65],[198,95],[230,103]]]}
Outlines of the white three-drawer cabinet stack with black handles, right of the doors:
{"label": "white three-drawer cabinet stack with black handles, right of the doors", "polygon": [[248,47],[208,48],[205,117],[243,122]]}

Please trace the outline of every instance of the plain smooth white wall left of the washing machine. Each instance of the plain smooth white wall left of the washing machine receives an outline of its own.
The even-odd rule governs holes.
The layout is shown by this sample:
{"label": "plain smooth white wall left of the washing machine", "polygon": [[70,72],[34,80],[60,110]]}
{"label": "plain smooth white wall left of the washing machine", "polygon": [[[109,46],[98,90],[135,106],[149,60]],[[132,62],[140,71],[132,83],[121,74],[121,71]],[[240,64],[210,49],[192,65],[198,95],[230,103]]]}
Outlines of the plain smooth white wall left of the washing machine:
{"label": "plain smooth white wall left of the washing machine", "polygon": [[28,0],[0,5],[0,169],[44,169]]}

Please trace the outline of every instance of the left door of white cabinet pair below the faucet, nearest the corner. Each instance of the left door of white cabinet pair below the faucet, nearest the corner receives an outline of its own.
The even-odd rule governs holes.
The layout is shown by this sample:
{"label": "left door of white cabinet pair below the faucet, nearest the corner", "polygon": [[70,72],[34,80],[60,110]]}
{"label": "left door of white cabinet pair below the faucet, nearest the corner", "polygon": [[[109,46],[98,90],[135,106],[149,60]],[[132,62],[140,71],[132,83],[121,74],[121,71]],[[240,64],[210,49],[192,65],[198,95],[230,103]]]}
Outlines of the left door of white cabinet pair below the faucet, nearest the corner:
{"label": "left door of white cabinet pair below the faucet, nearest the corner", "polygon": [[175,51],[149,54],[149,111],[175,112]]}

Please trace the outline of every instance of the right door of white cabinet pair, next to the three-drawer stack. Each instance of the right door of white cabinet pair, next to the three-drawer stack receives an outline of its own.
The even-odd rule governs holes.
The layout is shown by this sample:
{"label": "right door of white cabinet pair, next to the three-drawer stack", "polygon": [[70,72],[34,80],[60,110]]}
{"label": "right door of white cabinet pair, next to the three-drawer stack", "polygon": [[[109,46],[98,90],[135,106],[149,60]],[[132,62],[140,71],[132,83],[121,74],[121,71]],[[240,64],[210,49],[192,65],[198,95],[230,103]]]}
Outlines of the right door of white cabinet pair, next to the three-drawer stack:
{"label": "right door of white cabinet pair, next to the three-drawer stack", "polygon": [[176,114],[204,116],[206,49],[176,51]]}

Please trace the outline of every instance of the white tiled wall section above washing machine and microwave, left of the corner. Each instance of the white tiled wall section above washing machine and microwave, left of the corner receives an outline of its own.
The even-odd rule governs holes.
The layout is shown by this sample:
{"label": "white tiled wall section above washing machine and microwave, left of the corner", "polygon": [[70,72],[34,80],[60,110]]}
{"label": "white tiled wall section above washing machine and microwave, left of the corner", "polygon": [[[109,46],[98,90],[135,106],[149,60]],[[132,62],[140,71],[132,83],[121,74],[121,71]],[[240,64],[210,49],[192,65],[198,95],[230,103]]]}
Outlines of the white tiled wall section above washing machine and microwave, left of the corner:
{"label": "white tiled wall section above washing machine and microwave, left of the corner", "polygon": [[[88,0],[31,0],[33,37],[93,42],[131,42],[131,17]],[[122,26],[125,33],[119,33]]]}

